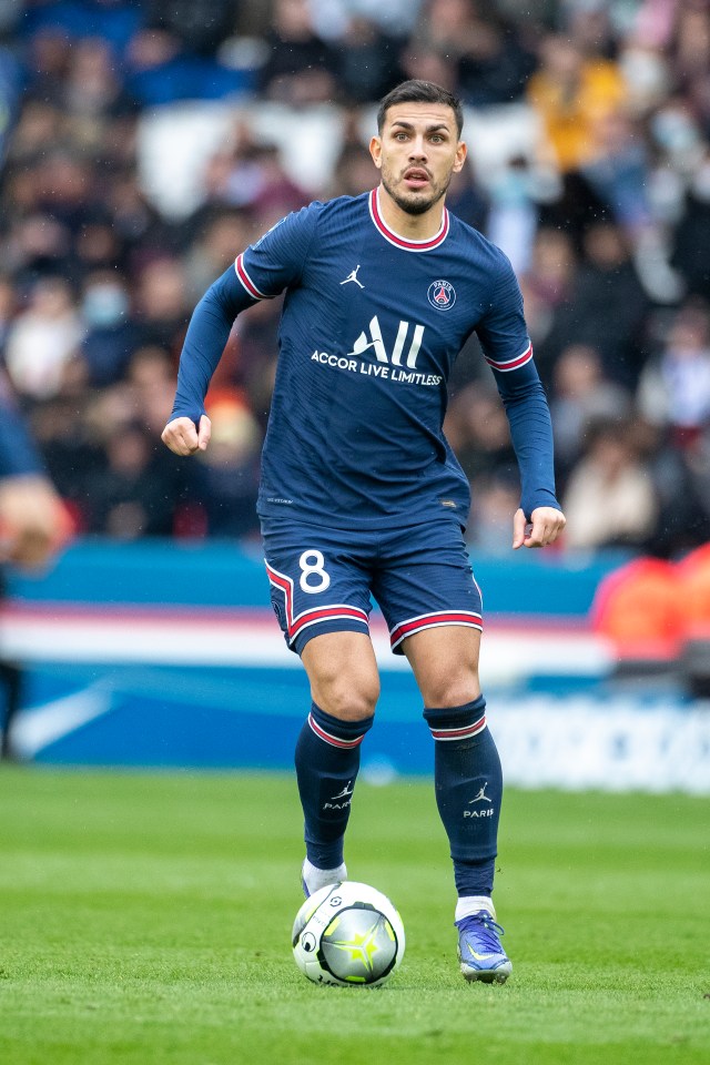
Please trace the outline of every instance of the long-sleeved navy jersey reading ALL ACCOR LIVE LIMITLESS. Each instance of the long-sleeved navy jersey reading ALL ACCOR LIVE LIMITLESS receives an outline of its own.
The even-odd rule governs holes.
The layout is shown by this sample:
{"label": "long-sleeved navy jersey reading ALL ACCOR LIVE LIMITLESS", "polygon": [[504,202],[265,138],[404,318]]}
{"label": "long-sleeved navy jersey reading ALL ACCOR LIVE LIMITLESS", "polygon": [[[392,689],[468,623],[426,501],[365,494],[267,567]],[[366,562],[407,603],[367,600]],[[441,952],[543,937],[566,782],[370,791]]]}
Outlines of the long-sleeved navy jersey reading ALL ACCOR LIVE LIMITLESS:
{"label": "long-sleeved navy jersey reading ALL ACCOR LIVE LIMITLESS", "polygon": [[435,237],[398,236],[377,191],[312,203],[237,256],[195,310],[173,416],[199,419],[235,314],[284,288],[262,518],[385,528],[447,510],[465,524],[468,484],[442,425],[452,367],[474,332],[508,412],[524,509],[558,506],[510,263],[446,210]]}

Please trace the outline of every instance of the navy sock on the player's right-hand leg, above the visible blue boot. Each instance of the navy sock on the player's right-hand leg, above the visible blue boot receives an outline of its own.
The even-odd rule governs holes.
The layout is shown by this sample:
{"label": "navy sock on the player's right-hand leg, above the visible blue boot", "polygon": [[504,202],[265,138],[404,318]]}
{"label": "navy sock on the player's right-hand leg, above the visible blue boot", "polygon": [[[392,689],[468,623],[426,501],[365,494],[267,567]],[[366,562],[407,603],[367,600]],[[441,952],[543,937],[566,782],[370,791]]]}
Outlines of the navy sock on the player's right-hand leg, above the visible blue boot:
{"label": "navy sock on the player's right-hand leg, above the visible blue boot", "polygon": [[485,711],[483,696],[463,707],[424,711],[436,741],[436,804],[459,896],[493,892],[503,773]]}

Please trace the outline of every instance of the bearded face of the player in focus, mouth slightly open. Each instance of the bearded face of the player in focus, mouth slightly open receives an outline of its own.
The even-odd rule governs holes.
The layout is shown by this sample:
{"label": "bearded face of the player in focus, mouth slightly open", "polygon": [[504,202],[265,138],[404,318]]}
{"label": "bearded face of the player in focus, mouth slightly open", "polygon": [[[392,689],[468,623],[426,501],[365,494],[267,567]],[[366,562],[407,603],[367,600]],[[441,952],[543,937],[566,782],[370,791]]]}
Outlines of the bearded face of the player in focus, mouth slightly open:
{"label": "bearded face of the player in focus, mouth slightly open", "polygon": [[407,214],[437,203],[466,159],[454,111],[440,103],[394,104],[369,151],[385,190]]}

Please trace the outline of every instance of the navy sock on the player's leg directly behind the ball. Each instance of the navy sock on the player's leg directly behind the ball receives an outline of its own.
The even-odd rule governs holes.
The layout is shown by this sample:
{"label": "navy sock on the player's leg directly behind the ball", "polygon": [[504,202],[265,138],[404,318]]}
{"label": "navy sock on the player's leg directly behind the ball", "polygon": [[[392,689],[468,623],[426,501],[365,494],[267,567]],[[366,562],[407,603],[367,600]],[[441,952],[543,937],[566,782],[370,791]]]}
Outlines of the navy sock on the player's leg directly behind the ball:
{"label": "navy sock on the player's leg directly behind the ball", "polygon": [[[296,743],[296,778],[306,858],[320,870],[343,863],[343,840],[359,769],[359,746],[373,717],[342,721],[315,703]],[[312,890],[312,885],[308,885]]]}

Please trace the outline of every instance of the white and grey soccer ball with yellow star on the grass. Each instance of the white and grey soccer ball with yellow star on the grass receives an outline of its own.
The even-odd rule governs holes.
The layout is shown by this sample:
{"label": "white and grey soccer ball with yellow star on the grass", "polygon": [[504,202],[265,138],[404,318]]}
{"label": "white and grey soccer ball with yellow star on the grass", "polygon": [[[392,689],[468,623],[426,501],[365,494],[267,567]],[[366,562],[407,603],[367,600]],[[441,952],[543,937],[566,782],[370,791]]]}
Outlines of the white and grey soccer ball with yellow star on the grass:
{"label": "white and grey soccer ball with yellow star on the grass", "polygon": [[293,923],[293,956],[315,984],[374,987],[404,956],[404,925],[381,891],[353,880],[306,899]]}

